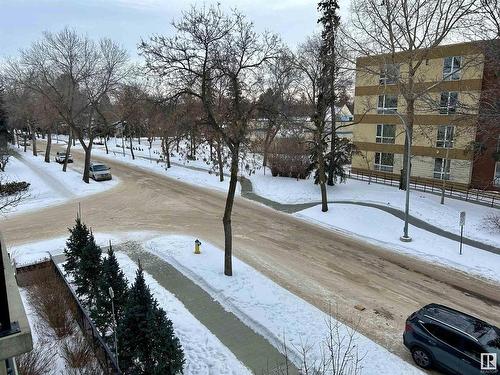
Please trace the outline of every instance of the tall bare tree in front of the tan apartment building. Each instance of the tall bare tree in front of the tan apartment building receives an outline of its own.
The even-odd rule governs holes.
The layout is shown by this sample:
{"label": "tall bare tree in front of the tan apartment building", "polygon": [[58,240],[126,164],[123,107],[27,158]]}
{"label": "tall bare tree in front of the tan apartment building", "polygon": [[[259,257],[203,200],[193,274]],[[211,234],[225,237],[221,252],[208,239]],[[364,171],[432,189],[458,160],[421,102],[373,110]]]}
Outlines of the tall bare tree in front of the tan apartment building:
{"label": "tall bare tree in front of the tan apartment building", "polygon": [[[349,32],[343,37],[355,56],[364,56],[360,74],[378,76],[395,84],[404,99],[399,119],[406,131],[401,187],[406,189],[406,166],[418,101],[453,73],[423,81],[422,70],[433,47],[446,42],[467,26],[462,22],[476,11],[476,0],[353,0]],[[402,54],[398,54],[403,52]],[[463,63],[477,64],[470,59]],[[394,111],[392,112],[394,113]]]}

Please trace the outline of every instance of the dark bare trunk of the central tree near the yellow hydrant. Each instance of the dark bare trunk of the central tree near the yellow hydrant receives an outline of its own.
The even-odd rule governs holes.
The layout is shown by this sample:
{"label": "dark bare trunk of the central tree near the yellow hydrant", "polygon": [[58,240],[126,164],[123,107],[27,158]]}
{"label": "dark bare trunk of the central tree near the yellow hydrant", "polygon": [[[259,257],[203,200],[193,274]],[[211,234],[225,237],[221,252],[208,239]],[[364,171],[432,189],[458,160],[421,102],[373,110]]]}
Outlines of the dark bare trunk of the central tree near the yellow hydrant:
{"label": "dark bare trunk of the central tree near the yellow hydrant", "polygon": [[231,178],[229,180],[229,191],[226,197],[224,217],[222,218],[222,224],[224,226],[224,275],[226,276],[233,275],[233,235],[231,228],[231,214],[233,211],[236,184],[238,183],[238,158],[239,146],[236,146],[233,148],[233,150],[231,150]]}

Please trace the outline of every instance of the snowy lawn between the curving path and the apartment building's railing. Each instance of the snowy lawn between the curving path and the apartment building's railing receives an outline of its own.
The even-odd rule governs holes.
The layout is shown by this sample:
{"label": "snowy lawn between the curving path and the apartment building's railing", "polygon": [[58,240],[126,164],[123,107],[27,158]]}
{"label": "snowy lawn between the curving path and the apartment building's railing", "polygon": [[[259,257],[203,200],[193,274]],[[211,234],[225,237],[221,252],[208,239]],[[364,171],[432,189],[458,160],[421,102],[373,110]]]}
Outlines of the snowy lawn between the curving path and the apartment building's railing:
{"label": "snowy lawn between the curving path and the apartment building's railing", "polygon": [[[294,178],[272,177],[269,169],[266,175],[261,169],[250,179],[255,193],[280,203],[321,201],[319,186],[315,185],[312,179],[297,181]],[[327,186],[327,188],[329,201],[371,202],[404,210],[405,193],[397,187],[375,183],[368,185],[366,181],[348,179],[345,184]],[[411,191],[410,214],[446,231],[460,234],[458,221],[461,211],[467,213],[464,228],[466,237],[500,247],[500,233],[493,233],[484,224],[487,216],[500,215],[500,210],[450,198],[446,198],[445,204],[441,205],[440,197],[437,195]],[[380,212],[377,209],[365,211],[373,218],[377,217]],[[328,222],[328,220],[325,221]],[[402,224],[397,225],[398,228],[400,226],[402,227]],[[356,233],[366,236],[358,230]]]}

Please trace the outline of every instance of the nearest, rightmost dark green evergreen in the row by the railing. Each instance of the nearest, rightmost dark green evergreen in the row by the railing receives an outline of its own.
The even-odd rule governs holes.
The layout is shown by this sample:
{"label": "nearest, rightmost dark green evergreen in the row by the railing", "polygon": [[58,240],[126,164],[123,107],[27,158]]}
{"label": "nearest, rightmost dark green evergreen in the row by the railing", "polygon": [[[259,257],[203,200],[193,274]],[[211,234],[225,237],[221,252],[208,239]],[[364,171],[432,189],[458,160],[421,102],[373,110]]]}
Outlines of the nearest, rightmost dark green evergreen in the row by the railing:
{"label": "nearest, rightmost dark green evergreen in the row by the railing", "polygon": [[151,295],[141,268],[137,270],[119,324],[118,350],[120,368],[125,374],[182,373],[181,345],[172,322]]}

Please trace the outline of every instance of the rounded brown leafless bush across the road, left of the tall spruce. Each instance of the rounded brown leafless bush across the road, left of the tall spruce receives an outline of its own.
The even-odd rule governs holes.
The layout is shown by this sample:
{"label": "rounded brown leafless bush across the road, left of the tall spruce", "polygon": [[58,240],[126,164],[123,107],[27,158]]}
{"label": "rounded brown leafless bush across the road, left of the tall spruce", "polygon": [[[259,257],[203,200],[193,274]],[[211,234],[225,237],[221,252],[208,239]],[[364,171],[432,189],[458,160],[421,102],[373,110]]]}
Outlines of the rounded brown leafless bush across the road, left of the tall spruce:
{"label": "rounded brown leafless bush across the road, left of the tall spruce", "polygon": [[307,178],[309,157],[304,142],[299,138],[275,140],[269,150],[268,160],[274,177]]}

